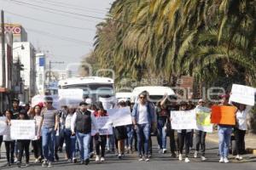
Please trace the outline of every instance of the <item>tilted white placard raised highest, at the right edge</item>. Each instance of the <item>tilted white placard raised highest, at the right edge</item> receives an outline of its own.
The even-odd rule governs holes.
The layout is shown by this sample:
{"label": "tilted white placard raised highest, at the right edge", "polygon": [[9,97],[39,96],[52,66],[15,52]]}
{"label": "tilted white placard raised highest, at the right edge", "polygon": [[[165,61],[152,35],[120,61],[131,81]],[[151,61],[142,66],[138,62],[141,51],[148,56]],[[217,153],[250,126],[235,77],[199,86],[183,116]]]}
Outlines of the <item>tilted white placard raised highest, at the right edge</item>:
{"label": "tilted white placard raised highest, at the right edge", "polygon": [[255,93],[256,88],[243,86],[239,84],[233,84],[230,95],[230,101],[244,105],[254,105]]}

